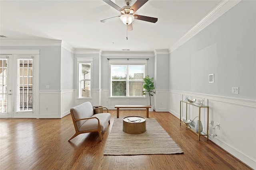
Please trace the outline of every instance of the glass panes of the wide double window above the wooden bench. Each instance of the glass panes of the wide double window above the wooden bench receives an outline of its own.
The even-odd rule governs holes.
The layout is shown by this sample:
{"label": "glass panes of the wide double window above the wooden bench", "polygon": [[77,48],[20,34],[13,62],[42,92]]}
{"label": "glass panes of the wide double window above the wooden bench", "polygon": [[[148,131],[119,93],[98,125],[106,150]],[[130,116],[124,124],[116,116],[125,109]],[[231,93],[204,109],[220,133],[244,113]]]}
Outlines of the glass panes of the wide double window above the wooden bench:
{"label": "glass panes of the wide double window above the wooden bench", "polygon": [[111,96],[143,96],[144,76],[145,64],[111,64]]}

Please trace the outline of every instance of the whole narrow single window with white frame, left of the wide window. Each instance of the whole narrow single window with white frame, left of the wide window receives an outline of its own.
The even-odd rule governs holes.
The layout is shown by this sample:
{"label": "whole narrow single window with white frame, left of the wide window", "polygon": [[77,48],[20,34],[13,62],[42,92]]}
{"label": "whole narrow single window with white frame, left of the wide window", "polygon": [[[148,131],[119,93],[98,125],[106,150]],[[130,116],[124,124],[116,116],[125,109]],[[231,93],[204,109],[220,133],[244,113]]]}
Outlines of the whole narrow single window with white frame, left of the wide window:
{"label": "whole narrow single window with white frame, left of the wide window", "polygon": [[78,91],[79,98],[91,97],[92,85],[92,59],[78,58]]}

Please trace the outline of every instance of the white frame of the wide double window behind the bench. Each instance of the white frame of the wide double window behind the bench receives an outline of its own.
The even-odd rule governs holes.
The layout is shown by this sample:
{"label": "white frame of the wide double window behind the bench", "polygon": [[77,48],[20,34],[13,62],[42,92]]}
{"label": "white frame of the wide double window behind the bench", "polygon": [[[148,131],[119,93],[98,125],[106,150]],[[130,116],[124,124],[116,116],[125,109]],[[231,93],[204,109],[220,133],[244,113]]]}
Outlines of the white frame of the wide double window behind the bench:
{"label": "white frame of the wide double window behind the bench", "polygon": [[[147,75],[147,62],[146,60],[110,60],[109,61],[109,84],[110,84],[110,98],[145,98],[146,95],[142,95],[142,96],[129,96],[130,92],[129,92],[129,88],[127,88],[127,86],[129,86],[127,83],[129,83],[129,80],[127,80],[126,78],[126,96],[112,96],[112,72],[111,72],[111,65],[144,65],[144,77]],[[144,78],[143,77],[143,78]],[[128,96],[127,96],[128,95]]]}

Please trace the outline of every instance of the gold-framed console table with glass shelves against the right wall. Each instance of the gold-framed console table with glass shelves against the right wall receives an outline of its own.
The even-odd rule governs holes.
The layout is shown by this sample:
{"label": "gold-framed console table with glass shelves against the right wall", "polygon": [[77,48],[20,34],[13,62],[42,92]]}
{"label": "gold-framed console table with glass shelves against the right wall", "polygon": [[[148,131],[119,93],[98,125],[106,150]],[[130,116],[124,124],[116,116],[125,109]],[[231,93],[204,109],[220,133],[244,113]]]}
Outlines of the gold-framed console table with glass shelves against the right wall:
{"label": "gold-framed console table with glass shelves against the right wall", "polygon": [[208,135],[208,130],[209,130],[209,106],[204,106],[204,105],[201,106],[200,104],[197,104],[197,103],[189,103],[187,101],[180,100],[180,125],[184,124],[184,125],[186,125],[186,127],[188,127],[188,124],[184,123],[181,120],[181,106],[182,106],[182,102],[186,104],[186,120],[188,120],[188,104],[192,105],[192,106],[199,107],[199,115],[198,115],[199,123],[200,123],[200,120],[201,120],[201,108],[207,108],[207,131],[206,131],[206,133],[204,133],[204,132],[200,133],[200,125],[198,127],[198,133],[194,129],[192,129],[192,128],[189,128],[189,129],[192,130],[193,132],[197,133],[198,141],[200,141],[200,136],[207,136],[207,140],[208,140],[208,137],[209,137],[209,135]]}

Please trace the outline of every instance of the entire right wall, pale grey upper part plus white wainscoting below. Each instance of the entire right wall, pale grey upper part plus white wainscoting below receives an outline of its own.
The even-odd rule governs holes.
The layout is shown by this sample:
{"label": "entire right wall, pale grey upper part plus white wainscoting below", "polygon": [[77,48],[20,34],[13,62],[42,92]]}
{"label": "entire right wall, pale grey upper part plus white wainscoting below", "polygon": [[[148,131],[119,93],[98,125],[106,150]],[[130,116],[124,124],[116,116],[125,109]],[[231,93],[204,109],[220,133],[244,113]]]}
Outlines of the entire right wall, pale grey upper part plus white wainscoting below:
{"label": "entire right wall, pale grey upper part plus white wainscoting below", "polygon": [[[220,123],[214,143],[256,169],[256,1],[243,0],[170,54],[169,111],[205,100]],[[214,74],[214,83],[208,82]],[[232,94],[232,86],[239,94]],[[182,107],[182,111],[184,108]],[[190,119],[198,115],[190,107]],[[205,111],[204,111],[205,114]],[[205,115],[204,115],[205,116]],[[183,115],[184,118],[184,115]],[[204,117],[204,120],[206,117]],[[204,128],[207,123],[204,122]],[[204,129],[205,130],[205,129]],[[209,133],[213,133],[212,127]]]}

